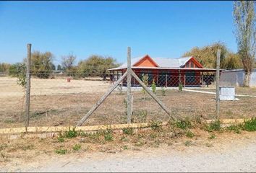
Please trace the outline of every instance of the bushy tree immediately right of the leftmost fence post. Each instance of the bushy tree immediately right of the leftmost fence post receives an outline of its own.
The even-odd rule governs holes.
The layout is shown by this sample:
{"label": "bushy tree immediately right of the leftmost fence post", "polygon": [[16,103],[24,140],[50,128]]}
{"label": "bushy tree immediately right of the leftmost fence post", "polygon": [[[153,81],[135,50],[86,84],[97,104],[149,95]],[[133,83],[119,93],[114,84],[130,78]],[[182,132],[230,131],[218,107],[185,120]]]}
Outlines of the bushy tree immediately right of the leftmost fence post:
{"label": "bushy tree immediately right of the leftmost fence post", "polygon": [[31,74],[47,79],[52,72],[53,58],[54,55],[51,52],[40,53],[34,51],[31,54]]}

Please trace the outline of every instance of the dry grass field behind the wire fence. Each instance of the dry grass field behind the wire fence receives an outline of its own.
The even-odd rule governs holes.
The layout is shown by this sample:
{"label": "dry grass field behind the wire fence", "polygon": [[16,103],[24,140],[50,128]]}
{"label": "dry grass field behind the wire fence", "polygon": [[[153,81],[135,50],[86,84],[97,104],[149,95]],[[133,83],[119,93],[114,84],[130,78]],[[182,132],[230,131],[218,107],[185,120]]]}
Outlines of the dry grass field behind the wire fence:
{"label": "dry grass field behind the wire fence", "polygon": [[[16,78],[0,78],[0,127],[23,127],[25,112],[25,91],[17,85]],[[30,102],[30,126],[75,125],[90,107],[111,86],[108,81],[67,79],[32,79]],[[201,89],[213,91],[214,89]],[[168,116],[141,91],[133,94],[134,123],[150,120],[168,120]],[[215,96],[195,92],[179,92],[176,89],[156,93],[171,110],[172,115],[183,117],[215,116]],[[254,94],[256,89],[237,88],[236,94]],[[103,102],[85,122],[85,125],[126,123],[126,94],[116,90]],[[221,102],[221,118],[255,117],[256,97],[238,97],[237,101]]]}

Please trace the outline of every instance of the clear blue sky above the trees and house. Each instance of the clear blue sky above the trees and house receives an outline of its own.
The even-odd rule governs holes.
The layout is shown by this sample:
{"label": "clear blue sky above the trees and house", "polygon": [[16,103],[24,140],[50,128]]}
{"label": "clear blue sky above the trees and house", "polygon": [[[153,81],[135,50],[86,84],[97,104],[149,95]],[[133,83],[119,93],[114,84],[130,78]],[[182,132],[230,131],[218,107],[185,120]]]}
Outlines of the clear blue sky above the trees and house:
{"label": "clear blue sky above the trees and house", "polygon": [[148,54],[179,58],[215,42],[236,52],[232,1],[0,1],[0,63],[17,63],[32,50],[73,53],[118,63]]}

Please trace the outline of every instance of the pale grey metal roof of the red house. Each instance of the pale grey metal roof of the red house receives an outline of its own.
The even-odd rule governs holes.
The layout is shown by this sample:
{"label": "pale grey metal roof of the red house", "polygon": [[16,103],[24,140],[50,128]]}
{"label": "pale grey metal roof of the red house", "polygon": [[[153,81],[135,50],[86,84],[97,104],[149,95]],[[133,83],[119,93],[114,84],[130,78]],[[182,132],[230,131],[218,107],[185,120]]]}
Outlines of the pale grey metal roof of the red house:
{"label": "pale grey metal roof of the red house", "polygon": [[[132,67],[135,67],[135,64],[138,63],[142,58],[145,58],[146,56],[132,58],[131,59]],[[189,61],[193,57],[189,56],[184,58],[152,58],[152,57],[150,58],[158,65],[156,68],[182,68],[185,66],[187,61]],[[119,70],[124,68],[127,68],[127,63],[123,63],[121,66],[117,68],[111,68],[109,70]]]}

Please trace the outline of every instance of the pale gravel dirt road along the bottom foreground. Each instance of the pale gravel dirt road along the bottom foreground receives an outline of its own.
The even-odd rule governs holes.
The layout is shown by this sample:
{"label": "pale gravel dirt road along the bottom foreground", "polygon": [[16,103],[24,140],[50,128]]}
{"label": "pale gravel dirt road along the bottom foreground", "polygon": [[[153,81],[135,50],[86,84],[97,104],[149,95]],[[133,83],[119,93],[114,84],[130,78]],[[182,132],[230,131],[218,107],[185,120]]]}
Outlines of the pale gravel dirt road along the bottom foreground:
{"label": "pale gravel dirt road along the bottom foreground", "polygon": [[4,167],[14,172],[256,172],[256,136],[215,146],[161,146],[117,154],[40,156],[35,163]]}

